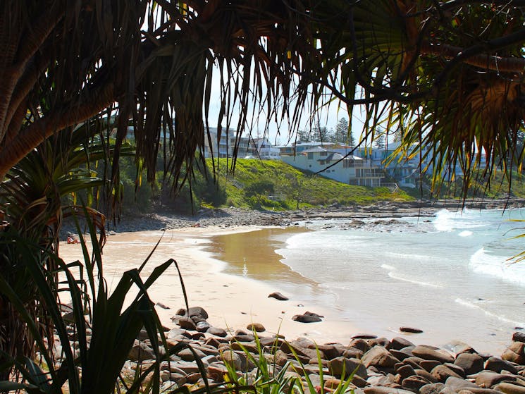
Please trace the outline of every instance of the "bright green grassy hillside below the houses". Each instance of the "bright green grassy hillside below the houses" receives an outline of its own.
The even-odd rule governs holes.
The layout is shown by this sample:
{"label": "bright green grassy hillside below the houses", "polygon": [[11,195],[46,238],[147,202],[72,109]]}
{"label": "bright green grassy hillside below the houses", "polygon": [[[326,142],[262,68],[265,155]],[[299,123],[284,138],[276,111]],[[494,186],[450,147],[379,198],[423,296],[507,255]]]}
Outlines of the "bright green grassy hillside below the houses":
{"label": "bright green grassy hillside below the houses", "polygon": [[297,209],[413,199],[402,190],[391,192],[387,187],[346,185],[304,173],[278,160],[238,159],[235,173],[227,175],[226,159],[221,159],[218,174],[218,191],[226,191],[223,204],[228,207]]}

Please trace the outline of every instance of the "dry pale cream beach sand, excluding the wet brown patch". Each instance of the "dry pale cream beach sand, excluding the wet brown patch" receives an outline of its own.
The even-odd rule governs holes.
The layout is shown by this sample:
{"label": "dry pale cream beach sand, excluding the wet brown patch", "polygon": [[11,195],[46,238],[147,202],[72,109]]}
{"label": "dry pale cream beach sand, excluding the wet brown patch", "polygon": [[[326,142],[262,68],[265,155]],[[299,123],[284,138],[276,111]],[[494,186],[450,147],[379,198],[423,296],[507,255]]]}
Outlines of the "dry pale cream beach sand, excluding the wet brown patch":
{"label": "dry pale cream beach sand, excluding the wet brown patch", "polygon": [[[252,322],[261,323],[266,327],[267,333],[280,333],[288,339],[302,336],[318,343],[346,343],[353,333],[359,332],[352,322],[338,321],[338,316],[333,312],[320,310],[319,307],[312,309],[311,305],[302,300],[290,298],[288,301],[278,301],[268,298],[268,294],[282,291],[279,288],[221,272],[226,264],[214,259],[208,251],[213,237],[259,229],[261,227],[240,226],[225,229],[210,226],[111,235],[104,247],[104,276],[109,288],[115,288],[122,273],[140,266],[162,236],[159,247],[142,271],[142,278],[164,261],[175,259],[183,273],[190,307],[199,306],[206,309],[209,313],[208,321],[212,326],[230,329],[233,332],[237,329],[245,330],[247,324]],[[60,254],[66,262],[80,259],[80,245],[67,245],[62,242]],[[170,317],[177,309],[184,307],[183,292],[175,266],[159,278],[149,295],[154,302],[169,307],[163,309],[157,306],[156,309],[165,326],[175,327]],[[292,321],[292,316],[307,311],[324,315],[325,318],[322,322],[311,324]]]}

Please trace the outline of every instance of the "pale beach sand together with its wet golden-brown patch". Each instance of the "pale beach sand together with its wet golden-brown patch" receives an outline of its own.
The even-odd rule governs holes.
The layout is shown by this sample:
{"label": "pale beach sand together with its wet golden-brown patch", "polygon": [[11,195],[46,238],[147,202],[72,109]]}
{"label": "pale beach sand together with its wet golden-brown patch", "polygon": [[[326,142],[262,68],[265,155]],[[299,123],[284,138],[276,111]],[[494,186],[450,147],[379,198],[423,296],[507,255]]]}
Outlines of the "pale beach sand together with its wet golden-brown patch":
{"label": "pale beach sand together with its wet golden-brown patch", "polygon": [[[309,303],[309,300],[316,297],[315,286],[305,283],[306,280],[298,273],[280,264],[279,256],[274,252],[276,242],[279,240],[274,239],[273,236],[282,235],[285,239],[285,233],[297,229],[266,228],[262,231],[268,231],[270,237],[257,238],[269,239],[270,242],[252,245],[249,242],[249,232],[260,230],[260,227],[255,226],[228,228],[228,230],[206,227],[166,230],[164,233],[143,231],[111,235],[104,247],[104,275],[109,288],[115,288],[122,273],[140,266],[163,235],[159,247],[142,271],[142,278],[146,278],[164,261],[175,259],[183,274],[190,307],[199,306],[206,309],[209,314],[208,321],[212,326],[227,328],[234,332],[237,329],[245,330],[248,324],[257,322],[266,327],[267,333],[280,333],[288,339],[303,336],[319,343],[347,343],[350,336],[359,332],[359,329],[349,321],[338,321],[338,316],[333,311],[323,310]],[[228,238],[226,245],[223,236],[235,233],[243,234]],[[232,260],[233,265],[227,272],[222,271],[227,266],[226,263],[214,258],[214,253],[221,252],[218,248],[225,252],[228,259],[237,256],[237,259]],[[79,259],[80,245],[63,243],[60,254],[66,262]],[[239,269],[242,272],[244,259],[247,261],[247,275],[231,274],[232,271]],[[254,264],[254,261],[258,263]],[[277,288],[272,281],[269,283],[259,281],[268,276],[285,277],[287,283],[292,285],[288,290],[302,289],[302,291],[294,292],[299,296],[290,297],[288,301],[268,298],[268,294],[274,291],[280,291],[285,295],[287,293],[287,288]],[[314,293],[311,293],[312,291]],[[177,309],[184,307],[185,303],[174,266],[152,286],[149,295],[154,302],[160,302],[169,308],[157,307],[162,323],[168,328],[175,327],[170,317]],[[128,299],[131,300],[132,296],[130,294]],[[307,311],[324,315],[325,318],[322,322],[311,324],[292,321],[292,316]]]}

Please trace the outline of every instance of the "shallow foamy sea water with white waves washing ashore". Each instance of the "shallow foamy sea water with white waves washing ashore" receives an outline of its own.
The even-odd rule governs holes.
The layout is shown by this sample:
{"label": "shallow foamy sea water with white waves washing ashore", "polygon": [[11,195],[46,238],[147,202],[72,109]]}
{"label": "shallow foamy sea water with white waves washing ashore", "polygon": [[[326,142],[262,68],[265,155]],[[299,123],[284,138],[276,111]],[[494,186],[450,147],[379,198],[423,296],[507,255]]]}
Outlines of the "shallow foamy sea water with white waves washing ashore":
{"label": "shallow foamy sea water with white waves washing ashore", "polygon": [[299,223],[313,231],[279,235],[276,252],[305,281],[273,282],[362,331],[393,338],[413,326],[419,343],[500,352],[525,327],[525,261],[512,264],[525,250],[515,238],[525,222],[513,220],[524,219],[523,209],[443,210],[366,229]]}

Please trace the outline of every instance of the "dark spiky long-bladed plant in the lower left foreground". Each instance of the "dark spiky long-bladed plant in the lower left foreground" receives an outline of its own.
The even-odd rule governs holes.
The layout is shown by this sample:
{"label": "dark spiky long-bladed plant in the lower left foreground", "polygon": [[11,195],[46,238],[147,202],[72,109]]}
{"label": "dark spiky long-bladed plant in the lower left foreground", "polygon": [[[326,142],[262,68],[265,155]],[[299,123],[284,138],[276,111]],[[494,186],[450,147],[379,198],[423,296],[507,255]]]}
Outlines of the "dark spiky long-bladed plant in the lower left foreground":
{"label": "dark spiky long-bladed plant in the lower left foreground", "polygon": [[[75,261],[66,264],[58,259],[56,254],[20,238],[14,229],[0,233],[0,244],[4,250],[13,250],[14,254],[20,254],[22,257],[20,262],[38,289],[39,299],[45,305],[42,312],[49,315],[63,352],[63,361],[61,364],[55,364],[51,345],[54,343],[53,335],[44,339],[39,331],[39,320],[34,319],[13,283],[8,281],[3,271],[0,272],[0,295],[14,305],[20,319],[27,324],[27,330],[35,339],[39,353],[49,369],[42,370],[30,357],[11,357],[4,353],[1,355],[0,372],[14,367],[15,371],[23,376],[24,383],[16,380],[0,382],[0,391],[19,388],[32,393],[59,394],[64,393],[63,386],[67,383],[67,392],[70,394],[109,394],[113,393],[117,386],[121,386],[121,389],[128,393],[137,393],[144,379],[151,376],[149,390],[159,393],[161,361],[186,347],[185,344],[180,344],[168,350],[159,316],[147,294],[149,287],[168,268],[174,265],[178,270],[177,263],[170,259],[156,267],[143,280],[140,273],[152,255],[149,254],[139,268],[123,273],[110,294],[102,270],[100,245],[103,238],[98,240],[94,226],[89,221],[88,224],[92,253],[87,250],[87,244],[81,236],[83,263]],[[56,261],[58,273],[63,278],[61,282],[48,281],[47,276],[54,273],[42,267],[41,254],[47,254],[47,257]],[[178,273],[180,276],[180,271]],[[180,281],[187,300],[182,277]],[[125,302],[128,294],[135,289],[137,295],[130,303]],[[58,292],[63,298],[70,297],[72,311],[68,318],[61,314]],[[137,374],[131,382],[125,381],[121,376],[123,365],[142,328],[151,341],[156,362]],[[73,345],[70,343],[70,332],[75,333]],[[162,348],[166,349],[166,352],[161,352]],[[140,369],[140,365],[137,369]]]}

